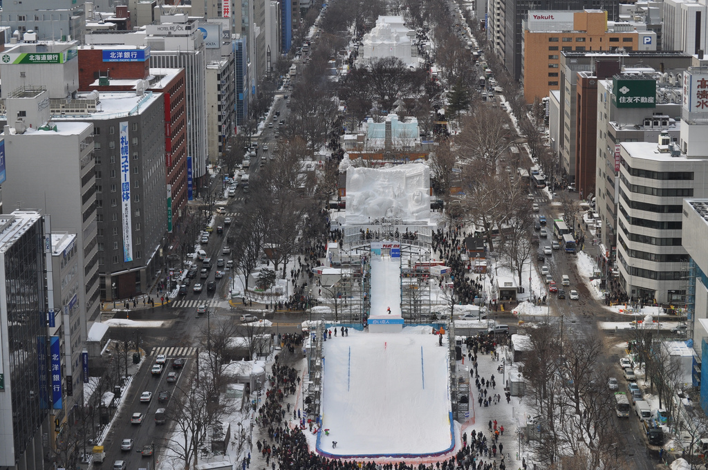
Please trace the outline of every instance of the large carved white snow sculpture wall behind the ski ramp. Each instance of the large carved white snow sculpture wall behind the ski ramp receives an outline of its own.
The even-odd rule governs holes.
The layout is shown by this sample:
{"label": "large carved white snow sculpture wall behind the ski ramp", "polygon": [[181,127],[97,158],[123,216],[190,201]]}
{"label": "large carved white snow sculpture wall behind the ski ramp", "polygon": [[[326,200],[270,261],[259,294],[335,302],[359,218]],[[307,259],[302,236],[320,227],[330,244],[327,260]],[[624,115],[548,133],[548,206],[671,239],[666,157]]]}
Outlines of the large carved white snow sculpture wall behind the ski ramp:
{"label": "large carved white snow sculpture wall behind the ski ramp", "polygon": [[376,219],[404,223],[430,221],[430,168],[423,164],[395,168],[347,168],[347,224]]}

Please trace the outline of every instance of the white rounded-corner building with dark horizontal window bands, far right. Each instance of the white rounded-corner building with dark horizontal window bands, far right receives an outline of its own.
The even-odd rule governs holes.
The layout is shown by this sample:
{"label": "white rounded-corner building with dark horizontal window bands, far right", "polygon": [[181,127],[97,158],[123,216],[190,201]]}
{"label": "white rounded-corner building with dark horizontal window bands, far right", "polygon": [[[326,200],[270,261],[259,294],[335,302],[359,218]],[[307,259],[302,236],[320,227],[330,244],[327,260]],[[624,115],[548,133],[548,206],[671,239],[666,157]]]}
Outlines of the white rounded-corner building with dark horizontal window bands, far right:
{"label": "white rounded-corner building with dark horizontal window bands, far right", "polygon": [[619,148],[617,265],[634,299],[685,303],[683,200],[708,197],[708,67],[684,72],[680,138]]}

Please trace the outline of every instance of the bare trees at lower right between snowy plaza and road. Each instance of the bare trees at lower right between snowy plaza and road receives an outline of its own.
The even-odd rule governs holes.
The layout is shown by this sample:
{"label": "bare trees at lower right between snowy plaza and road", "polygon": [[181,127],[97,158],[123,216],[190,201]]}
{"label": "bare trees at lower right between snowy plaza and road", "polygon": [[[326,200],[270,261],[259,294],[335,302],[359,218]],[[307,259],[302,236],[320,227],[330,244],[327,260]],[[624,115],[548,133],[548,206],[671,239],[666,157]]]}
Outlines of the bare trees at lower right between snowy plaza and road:
{"label": "bare trees at lower right between snowy plaza and road", "polygon": [[[562,325],[562,323],[561,323]],[[561,326],[562,328],[562,326]],[[525,399],[532,410],[526,437],[549,468],[627,469],[627,442],[615,419],[598,336],[544,323],[528,331]]]}

